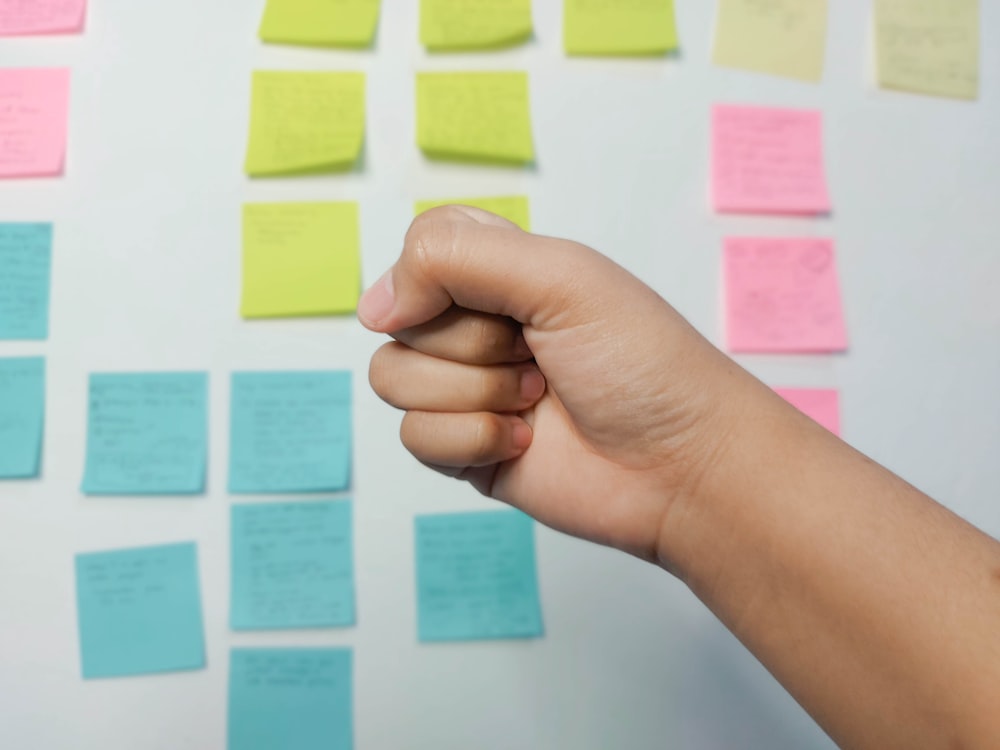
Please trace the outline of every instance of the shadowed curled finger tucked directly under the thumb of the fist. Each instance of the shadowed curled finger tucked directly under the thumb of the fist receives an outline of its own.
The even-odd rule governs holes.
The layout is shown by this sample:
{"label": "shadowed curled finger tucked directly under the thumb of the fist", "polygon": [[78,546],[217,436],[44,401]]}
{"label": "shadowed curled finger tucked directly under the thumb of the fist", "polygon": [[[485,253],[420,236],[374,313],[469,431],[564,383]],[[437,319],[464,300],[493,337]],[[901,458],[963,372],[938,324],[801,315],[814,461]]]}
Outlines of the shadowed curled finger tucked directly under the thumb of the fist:
{"label": "shadowed curled finger tucked directly under the thumb of the fist", "polygon": [[392,337],[432,357],[474,365],[524,362],[532,356],[517,321],[455,306]]}

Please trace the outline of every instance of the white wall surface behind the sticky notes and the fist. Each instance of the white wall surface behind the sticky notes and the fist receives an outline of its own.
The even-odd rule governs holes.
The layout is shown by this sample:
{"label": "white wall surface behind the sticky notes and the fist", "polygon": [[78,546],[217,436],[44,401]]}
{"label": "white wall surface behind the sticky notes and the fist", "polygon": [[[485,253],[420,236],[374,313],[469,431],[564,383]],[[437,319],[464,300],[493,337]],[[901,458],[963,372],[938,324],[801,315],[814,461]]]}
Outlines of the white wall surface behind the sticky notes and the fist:
{"label": "white wall surface behind the sticky notes and the fist", "polygon": [[[842,389],[847,440],[996,535],[1000,2],[982,0],[974,104],[876,90],[869,2],[831,3],[820,86],[712,67],[715,4],[702,0],[678,1],[683,50],[654,61],[566,59],[557,0],[536,0],[537,38],[523,48],[429,57],[416,0],[383,5],[366,52],[263,46],[262,0],[93,0],[82,36],[0,40],[2,66],[73,69],[65,178],[0,183],[0,221],[56,225],[51,339],[0,342],[0,356],[48,358],[44,475],[0,484],[0,747],[224,747],[230,646],[293,644],[355,649],[358,748],[830,747],[679,583],[547,529],[543,640],[418,646],[413,515],[487,501],[398,445],[398,416],[366,387],[378,338],[354,319],[239,319],[240,206],[359,200],[367,283],[396,256],[415,198],[525,192],[539,232],[603,250],[715,341],[722,237],[831,235],[850,353],[741,363],[772,385]],[[420,156],[413,74],[463,67],[530,71],[537,169]],[[367,71],[363,167],[248,181],[255,68]],[[830,218],[708,210],[707,122],[720,101],[823,109]],[[228,376],[304,367],[356,373],[359,624],[232,634]],[[212,374],[207,496],[83,498],[87,374],[157,369]],[[84,683],[73,554],[188,539],[208,669]]]}

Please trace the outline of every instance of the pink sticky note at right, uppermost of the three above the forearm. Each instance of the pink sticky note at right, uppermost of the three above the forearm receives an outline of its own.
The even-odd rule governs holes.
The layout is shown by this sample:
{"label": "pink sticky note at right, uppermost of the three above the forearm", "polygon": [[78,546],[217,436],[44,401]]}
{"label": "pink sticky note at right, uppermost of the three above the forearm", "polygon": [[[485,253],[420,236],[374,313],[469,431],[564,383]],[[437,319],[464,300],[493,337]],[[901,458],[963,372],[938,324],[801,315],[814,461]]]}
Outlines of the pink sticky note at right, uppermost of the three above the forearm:
{"label": "pink sticky note at right, uppermost of the three above the forearm", "polygon": [[724,213],[829,212],[820,112],[716,106],[712,200]]}

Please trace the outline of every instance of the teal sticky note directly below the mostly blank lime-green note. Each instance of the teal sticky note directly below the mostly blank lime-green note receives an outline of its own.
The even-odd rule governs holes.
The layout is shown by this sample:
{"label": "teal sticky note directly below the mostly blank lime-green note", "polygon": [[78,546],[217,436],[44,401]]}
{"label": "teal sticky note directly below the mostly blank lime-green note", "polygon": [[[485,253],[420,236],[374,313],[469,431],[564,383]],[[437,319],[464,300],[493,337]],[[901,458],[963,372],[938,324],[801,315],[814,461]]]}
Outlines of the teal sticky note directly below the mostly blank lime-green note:
{"label": "teal sticky note directly below the mostly blank lime-green note", "polygon": [[233,373],[229,491],[335,492],[351,467],[351,373]]}

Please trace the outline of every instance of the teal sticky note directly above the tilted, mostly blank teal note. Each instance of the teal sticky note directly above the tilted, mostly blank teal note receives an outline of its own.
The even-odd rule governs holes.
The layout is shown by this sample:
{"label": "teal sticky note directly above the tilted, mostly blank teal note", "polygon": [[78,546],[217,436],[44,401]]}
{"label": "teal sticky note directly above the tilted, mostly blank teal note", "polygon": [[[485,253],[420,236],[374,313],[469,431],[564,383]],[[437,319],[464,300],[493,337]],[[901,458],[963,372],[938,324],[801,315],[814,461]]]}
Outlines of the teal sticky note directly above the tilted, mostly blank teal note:
{"label": "teal sticky note directly above the tilted, mostly blank teal note", "polygon": [[88,495],[188,495],[205,489],[208,375],[90,376]]}

